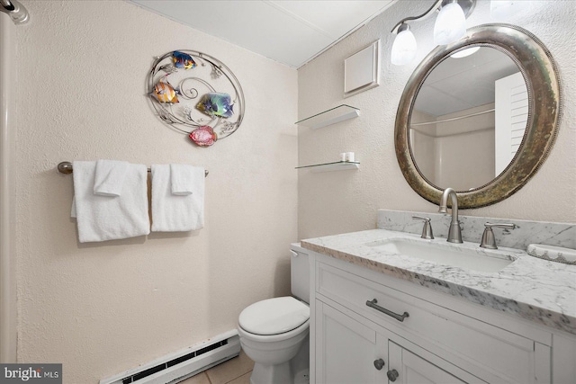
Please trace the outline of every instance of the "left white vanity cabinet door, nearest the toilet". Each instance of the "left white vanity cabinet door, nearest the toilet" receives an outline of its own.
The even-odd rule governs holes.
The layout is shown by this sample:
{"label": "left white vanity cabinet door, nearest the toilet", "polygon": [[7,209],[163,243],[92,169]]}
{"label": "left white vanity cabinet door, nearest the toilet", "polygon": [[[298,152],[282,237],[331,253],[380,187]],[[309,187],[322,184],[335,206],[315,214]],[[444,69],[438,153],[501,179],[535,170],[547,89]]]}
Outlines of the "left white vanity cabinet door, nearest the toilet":
{"label": "left white vanity cabinet door, nearest the toilet", "polygon": [[[382,336],[320,300],[316,300],[316,383],[368,384],[385,382]],[[380,343],[385,345],[385,343]]]}

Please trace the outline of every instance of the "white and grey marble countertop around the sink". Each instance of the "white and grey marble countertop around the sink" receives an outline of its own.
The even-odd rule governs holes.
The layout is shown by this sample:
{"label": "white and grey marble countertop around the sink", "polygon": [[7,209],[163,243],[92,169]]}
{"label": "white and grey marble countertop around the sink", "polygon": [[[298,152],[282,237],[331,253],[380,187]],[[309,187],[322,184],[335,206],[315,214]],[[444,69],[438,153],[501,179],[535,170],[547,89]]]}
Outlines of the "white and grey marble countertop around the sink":
{"label": "white and grey marble countertop around the sink", "polygon": [[[368,246],[399,237],[415,241],[420,238],[405,232],[372,229],[310,238],[302,240],[301,245],[323,255],[576,335],[576,265],[548,262],[519,249],[499,247],[497,252],[500,255],[515,261],[500,272],[476,272]],[[455,245],[439,237],[422,241],[464,247],[480,255],[485,252],[476,243]]]}

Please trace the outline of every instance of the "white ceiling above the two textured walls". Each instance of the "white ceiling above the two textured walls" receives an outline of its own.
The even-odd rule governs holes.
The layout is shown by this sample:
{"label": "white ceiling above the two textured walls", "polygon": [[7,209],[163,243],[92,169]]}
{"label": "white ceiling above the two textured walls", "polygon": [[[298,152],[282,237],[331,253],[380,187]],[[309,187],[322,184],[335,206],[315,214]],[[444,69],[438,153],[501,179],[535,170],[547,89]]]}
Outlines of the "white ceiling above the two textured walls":
{"label": "white ceiling above the two textured walls", "polygon": [[298,68],[398,0],[129,1]]}

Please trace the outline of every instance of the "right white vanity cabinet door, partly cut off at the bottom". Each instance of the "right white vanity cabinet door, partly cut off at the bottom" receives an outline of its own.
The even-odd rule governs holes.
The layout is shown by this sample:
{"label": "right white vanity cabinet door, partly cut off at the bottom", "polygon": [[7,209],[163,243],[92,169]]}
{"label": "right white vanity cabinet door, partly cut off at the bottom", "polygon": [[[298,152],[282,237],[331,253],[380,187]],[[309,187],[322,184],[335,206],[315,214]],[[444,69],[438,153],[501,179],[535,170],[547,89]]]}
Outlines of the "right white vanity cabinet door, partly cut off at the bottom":
{"label": "right white vanity cabinet door, partly cut off at the bottom", "polygon": [[[388,343],[388,356],[390,365],[387,374],[389,382],[394,382],[394,384],[460,384],[466,382],[483,382],[468,374],[465,374],[466,378],[463,378],[465,381],[461,380],[432,362],[428,362],[428,360],[392,342]],[[460,371],[458,373],[462,375],[464,372]]]}

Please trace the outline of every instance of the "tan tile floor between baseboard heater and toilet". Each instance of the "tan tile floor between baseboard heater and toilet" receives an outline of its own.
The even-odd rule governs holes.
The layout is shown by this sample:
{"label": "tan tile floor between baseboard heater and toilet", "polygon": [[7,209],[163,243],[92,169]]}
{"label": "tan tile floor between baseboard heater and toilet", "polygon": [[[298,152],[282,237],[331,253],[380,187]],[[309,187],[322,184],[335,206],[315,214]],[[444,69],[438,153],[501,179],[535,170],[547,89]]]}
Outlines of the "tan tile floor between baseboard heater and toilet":
{"label": "tan tile floor between baseboard heater and toilet", "polygon": [[238,357],[180,381],[179,384],[250,384],[253,368],[254,362],[244,351],[240,351]]}

